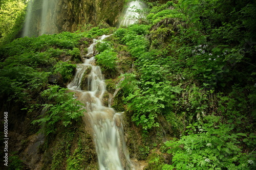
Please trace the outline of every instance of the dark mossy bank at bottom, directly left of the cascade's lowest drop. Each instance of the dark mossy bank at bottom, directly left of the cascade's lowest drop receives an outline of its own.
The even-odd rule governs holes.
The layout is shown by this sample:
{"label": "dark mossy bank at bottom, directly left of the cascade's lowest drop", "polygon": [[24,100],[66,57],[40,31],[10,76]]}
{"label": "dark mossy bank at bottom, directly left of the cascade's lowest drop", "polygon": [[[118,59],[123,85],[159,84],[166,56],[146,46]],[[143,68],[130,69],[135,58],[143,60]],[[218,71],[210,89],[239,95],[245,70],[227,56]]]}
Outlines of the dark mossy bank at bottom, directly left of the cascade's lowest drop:
{"label": "dark mossy bank at bottom, directly left of the cascade's lowest drop", "polygon": [[95,145],[82,120],[57,131],[56,136],[47,137],[42,169],[98,169]]}

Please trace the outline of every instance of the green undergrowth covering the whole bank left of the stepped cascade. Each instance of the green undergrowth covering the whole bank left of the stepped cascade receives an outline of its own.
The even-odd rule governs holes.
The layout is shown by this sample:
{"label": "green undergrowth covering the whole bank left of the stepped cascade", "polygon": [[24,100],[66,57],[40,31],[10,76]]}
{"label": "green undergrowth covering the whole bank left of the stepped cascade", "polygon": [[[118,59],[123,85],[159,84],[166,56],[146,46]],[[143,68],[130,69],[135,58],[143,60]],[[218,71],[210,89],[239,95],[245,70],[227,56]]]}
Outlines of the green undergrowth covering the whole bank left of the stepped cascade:
{"label": "green undergrowth covering the whole bank left of the stepped cascade", "polygon": [[[79,126],[83,127],[81,118],[86,110],[83,109],[83,105],[79,101],[74,99],[73,93],[68,91],[66,84],[73,79],[75,64],[81,63],[81,55],[84,55],[81,51],[87,54],[86,46],[89,45],[89,42],[83,37],[95,38],[111,32],[113,32],[113,28],[93,28],[87,32],[62,32],[55,35],[18,38],[1,46],[1,104],[6,110],[10,110],[10,106],[15,105],[17,107],[15,112],[20,112],[18,117],[26,117],[25,133],[31,135],[35,133],[33,129],[40,129],[40,132],[47,136],[45,143],[41,146],[41,152],[48,151],[45,152],[44,159],[49,159],[49,152],[53,152],[50,157],[54,157],[54,159],[44,168],[59,169],[59,167],[65,166],[62,165],[63,161],[67,162],[69,169],[83,166],[95,169],[97,166],[92,139],[89,140],[88,136],[81,138],[82,135],[74,138],[74,129]],[[92,39],[87,38],[87,40]],[[19,118],[14,120],[14,115],[16,113],[13,115],[10,113],[10,127],[22,123],[19,122]],[[32,124],[38,128],[31,129]],[[70,129],[73,130],[70,131]],[[70,139],[59,138],[60,132],[73,135]],[[85,132],[77,133],[89,135]],[[55,143],[54,139],[64,142],[65,146],[54,147],[55,150],[51,151],[52,144]],[[78,148],[71,152],[71,143],[75,140],[86,144],[78,143]],[[75,160],[80,150],[83,150],[83,153],[92,154],[92,156],[80,155],[79,160]],[[22,151],[19,150],[19,152]],[[15,159],[11,161],[9,169],[22,168],[22,161],[17,159],[17,154],[17,152],[11,153]]]}

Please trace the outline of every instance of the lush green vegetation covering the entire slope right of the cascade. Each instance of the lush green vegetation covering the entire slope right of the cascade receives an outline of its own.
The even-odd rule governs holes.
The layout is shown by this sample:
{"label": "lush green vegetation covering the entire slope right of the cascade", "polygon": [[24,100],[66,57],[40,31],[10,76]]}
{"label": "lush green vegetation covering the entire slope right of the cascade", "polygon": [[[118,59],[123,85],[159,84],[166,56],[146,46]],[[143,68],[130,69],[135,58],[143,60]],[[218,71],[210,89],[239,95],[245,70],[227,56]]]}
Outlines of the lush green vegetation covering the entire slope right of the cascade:
{"label": "lush green vegetation covering the entire slope right of the cascade", "polygon": [[255,6],[148,5],[142,24],[114,35],[135,60],[121,83],[132,121],[151,131],[163,116],[174,136],[183,135],[166,142],[173,158],[156,169],[255,168],[255,27],[247,22]]}

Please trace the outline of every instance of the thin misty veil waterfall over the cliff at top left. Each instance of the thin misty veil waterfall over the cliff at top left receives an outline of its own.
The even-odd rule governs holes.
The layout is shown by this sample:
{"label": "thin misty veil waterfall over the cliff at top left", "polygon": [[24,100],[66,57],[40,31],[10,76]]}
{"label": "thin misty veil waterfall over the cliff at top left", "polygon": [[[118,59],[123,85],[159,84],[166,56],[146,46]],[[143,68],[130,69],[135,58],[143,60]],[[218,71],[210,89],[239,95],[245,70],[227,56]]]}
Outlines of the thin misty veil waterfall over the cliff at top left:
{"label": "thin misty veil waterfall over the cliff at top left", "polygon": [[56,9],[57,0],[30,0],[22,36],[58,33]]}

